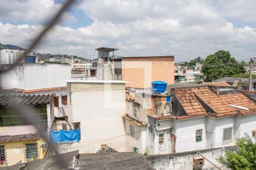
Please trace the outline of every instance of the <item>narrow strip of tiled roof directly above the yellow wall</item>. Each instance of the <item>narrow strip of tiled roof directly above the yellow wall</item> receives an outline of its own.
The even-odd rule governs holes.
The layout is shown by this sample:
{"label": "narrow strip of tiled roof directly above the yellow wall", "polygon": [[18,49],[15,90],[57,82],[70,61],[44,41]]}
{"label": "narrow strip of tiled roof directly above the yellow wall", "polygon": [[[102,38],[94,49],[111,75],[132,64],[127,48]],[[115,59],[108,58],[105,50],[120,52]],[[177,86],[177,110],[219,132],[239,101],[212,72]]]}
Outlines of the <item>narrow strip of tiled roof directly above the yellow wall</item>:
{"label": "narrow strip of tiled roof directly above the yellow wall", "polygon": [[37,139],[39,139],[38,134],[0,136],[0,142],[36,141]]}

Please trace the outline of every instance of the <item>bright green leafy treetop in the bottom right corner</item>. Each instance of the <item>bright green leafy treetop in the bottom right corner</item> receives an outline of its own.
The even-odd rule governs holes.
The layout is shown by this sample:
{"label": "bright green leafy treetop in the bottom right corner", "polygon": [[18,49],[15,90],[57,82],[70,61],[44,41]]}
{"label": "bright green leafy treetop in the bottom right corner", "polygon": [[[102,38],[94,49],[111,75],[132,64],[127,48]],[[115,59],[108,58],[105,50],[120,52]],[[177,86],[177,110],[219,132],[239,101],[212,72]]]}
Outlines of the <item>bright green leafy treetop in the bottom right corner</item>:
{"label": "bright green leafy treetop in the bottom right corner", "polygon": [[[256,139],[256,137],[254,137]],[[248,134],[238,139],[238,151],[226,151],[225,156],[218,156],[217,162],[225,167],[240,169],[256,169],[256,143],[254,143]]]}

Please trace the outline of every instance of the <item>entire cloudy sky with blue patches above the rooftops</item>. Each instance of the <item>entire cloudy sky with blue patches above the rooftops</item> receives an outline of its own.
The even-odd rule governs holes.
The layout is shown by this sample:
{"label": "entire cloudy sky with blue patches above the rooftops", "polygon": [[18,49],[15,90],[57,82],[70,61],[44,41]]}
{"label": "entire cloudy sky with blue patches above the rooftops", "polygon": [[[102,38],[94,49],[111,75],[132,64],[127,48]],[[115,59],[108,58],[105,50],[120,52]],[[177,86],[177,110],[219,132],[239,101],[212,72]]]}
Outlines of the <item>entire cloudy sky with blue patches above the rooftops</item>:
{"label": "entire cloudy sky with blue patches above the rooftops", "polygon": [[[1,0],[0,42],[26,46],[63,0]],[[35,52],[96,58],[100,46],[121,56],[174,55],[175,61],[229,50],[256,56],[256,1],[78,0]]]}

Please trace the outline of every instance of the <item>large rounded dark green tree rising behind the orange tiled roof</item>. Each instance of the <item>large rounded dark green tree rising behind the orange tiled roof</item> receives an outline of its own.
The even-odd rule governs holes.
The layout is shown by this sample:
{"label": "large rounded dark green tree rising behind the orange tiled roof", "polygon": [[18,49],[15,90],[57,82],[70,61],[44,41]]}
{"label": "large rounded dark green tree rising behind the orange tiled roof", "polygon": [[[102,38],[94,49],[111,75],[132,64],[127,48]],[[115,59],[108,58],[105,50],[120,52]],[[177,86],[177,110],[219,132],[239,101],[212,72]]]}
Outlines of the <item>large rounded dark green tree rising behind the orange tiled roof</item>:
{"label": "large rounded dark green tree rising behind the orange tiled roof", "polygon": [[212,82],[224,76],[245,73],[243,63],[238,63],[236,59],[231,57],[230,53],[225,50],[219,50],[207,56],[201,71],[207,77],[207,82]]}

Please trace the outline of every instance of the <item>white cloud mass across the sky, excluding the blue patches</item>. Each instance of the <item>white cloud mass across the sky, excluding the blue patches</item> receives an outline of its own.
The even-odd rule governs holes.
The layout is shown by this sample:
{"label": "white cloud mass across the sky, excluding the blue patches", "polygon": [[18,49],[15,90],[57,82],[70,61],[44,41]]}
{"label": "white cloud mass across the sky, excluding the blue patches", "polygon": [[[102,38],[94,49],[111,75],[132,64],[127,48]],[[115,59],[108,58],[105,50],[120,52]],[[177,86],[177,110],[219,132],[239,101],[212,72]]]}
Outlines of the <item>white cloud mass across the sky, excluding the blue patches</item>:
{"label": "white cloud mass across the sky, excluding the blue patches", "polygon": [[[43,8],[54,4],[45,1],[48,5]],[[229,50],[238,59],[253,56],[256,28],[237,27],[230,22],[232,14],[223,11],[221,3],[82,1],[79,8],[93,23],[77,29],[56,25],[36,52],[96,58],[95,48],[109,46],[121,49],[116,54],[123,56],[175,55],[176,61],[204,57],[205,53],[221,49]],[[0,23],[0,40],[3,44],[27,45],[40,29],[40,25]]]}

